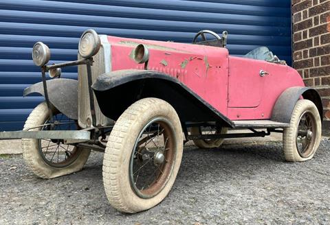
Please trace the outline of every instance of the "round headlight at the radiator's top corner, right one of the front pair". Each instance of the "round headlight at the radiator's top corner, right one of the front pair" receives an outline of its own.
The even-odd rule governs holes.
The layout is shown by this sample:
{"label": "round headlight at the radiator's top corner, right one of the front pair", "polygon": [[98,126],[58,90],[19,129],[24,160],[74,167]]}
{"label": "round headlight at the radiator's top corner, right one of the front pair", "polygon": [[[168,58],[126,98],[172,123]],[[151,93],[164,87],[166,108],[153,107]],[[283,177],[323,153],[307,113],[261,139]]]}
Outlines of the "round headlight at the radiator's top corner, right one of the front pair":
{"label": "round headlight at the radiator's top corner, right one of the front pair", "polygon": [[87,29],[79,40],[79,54],[83,58],[89,58],[98,53],[101,41],[94,29]]}

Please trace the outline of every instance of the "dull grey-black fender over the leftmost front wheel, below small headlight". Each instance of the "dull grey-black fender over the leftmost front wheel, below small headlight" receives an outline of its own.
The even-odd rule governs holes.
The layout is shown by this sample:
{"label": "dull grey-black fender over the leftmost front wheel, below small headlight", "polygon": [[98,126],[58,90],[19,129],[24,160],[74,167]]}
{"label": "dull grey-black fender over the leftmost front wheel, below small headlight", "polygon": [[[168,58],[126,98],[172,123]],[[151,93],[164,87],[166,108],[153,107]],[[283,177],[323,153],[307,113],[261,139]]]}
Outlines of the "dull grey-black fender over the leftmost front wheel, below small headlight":
{"label": "dull grey-black fender over the leftmost front wheel, below small headlight", "polygon": [[[71,119],[78,119],[78,81],[65,78],[47,80],[47,91],[55,108]],[[25,88],[23,95],[31,93],[45,96],[43,82]]]}

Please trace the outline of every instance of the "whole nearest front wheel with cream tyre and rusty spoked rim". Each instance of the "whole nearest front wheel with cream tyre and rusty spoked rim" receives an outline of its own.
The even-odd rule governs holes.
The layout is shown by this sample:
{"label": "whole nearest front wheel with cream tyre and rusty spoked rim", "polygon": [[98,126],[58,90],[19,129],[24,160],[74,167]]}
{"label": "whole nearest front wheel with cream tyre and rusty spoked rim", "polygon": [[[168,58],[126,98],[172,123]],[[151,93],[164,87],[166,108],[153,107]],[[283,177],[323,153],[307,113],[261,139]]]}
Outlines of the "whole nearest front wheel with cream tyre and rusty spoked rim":
{"label": "whole nearest front wheel with cream tyre and rusty spoked rim", "polygon": [[170,104],[145,98],[129,106],[116,121],[104,154],[110,204],[137,213],[162,202],[175,182],[182,150],[181,123]]}

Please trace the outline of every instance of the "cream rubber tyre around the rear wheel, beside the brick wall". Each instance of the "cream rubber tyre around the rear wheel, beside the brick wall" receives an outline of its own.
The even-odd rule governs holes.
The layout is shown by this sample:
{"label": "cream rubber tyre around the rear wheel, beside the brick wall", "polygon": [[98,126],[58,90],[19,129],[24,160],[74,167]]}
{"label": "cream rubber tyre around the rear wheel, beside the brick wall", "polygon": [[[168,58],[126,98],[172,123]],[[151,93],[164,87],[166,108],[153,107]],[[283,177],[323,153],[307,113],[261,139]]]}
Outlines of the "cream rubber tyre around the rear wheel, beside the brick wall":
{"label": "cream rubber tyre around the rear wheel, beside the brick wall", "polygon": [[[311,115],[313,115],[314,119],[316,120],[316,141],[314,143],[311,154],[308,157],[303,158],[302,156],[300,156],[297,150],[296,136],[300,117],[307,110],[311,112]],[[285,154],[285,160],[289,162],[303,162],[313,158],[316,150],[318,150],[318,145],[320,145],[321,136],[322,122],[320,119],[320,113],[318,112],[318,108],[316,108],[313,102],[307,99],[298,100],[296,106],[294,107],[294,111],[292,112],[290,126],[289,128],[285,128],[283,132],[283,150]]]}

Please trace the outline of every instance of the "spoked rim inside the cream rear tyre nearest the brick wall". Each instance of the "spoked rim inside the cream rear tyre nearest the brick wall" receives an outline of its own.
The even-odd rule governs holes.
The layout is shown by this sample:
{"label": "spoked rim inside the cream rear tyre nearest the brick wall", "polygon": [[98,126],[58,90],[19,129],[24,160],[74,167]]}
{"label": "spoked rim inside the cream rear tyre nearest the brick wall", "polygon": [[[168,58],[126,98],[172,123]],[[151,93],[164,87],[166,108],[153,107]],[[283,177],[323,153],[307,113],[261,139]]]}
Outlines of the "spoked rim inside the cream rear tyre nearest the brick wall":
{"label": "spoked rim inside the cream rear tyre nearest the brick wall", "polygon": [[309,110],[305,111],[299,119],[296,134],[296,147],[303,158],[308,158],[314,152],[316,143],[316,119]]}

